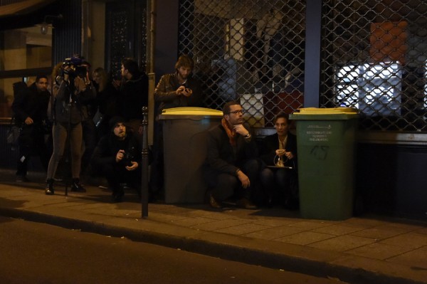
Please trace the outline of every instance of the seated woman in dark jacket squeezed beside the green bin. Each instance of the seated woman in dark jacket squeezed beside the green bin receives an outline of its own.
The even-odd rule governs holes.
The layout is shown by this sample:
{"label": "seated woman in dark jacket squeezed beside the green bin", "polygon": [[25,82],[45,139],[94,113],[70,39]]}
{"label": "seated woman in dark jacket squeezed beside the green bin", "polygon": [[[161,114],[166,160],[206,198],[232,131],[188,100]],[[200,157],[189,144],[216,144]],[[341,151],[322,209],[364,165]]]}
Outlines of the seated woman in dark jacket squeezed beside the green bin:
{"label": "seated woman in dark jacket squeezed beside the green bin", "polygon": [[260,158],[265,167],[260,179],[269,207],[279,203],[287,209],[296,209],[297,137],[288,132],[288,122],[289,116],[280,112],[274,120],[276,133],[263,140]]}

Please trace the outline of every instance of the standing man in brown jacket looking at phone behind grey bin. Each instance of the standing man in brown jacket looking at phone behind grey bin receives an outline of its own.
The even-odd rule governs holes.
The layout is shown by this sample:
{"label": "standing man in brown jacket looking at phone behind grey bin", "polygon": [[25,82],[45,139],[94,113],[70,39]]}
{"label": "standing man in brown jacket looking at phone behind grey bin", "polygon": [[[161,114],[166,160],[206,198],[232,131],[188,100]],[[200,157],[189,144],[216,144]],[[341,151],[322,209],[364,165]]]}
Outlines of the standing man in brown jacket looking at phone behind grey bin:
{"label": "standing man in brown jacket looking at phone behind grey bin", "polygon": [[[157,115],[171,107],[202,107],[204,95],[198,80],[191,77],[194,61],[189,56],[179,56],[175,72],[162,75],[154,90],[154,101],[158,105]],[[157,116],[156,115],[156,116]],[[150,172],[150,199],[154,201],[163,189],[163,127],[154,122],[153,161]]]}

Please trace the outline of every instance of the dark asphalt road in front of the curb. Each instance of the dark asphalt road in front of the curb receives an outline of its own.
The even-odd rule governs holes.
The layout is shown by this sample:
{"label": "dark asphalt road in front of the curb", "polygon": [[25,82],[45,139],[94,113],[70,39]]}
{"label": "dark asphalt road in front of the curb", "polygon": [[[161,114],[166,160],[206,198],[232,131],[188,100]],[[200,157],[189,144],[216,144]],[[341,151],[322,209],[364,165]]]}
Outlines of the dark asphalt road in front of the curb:
{"label": "dark asphalt road in front of the curb", "polygon": [[0,216],[0,283],[342,283]]}

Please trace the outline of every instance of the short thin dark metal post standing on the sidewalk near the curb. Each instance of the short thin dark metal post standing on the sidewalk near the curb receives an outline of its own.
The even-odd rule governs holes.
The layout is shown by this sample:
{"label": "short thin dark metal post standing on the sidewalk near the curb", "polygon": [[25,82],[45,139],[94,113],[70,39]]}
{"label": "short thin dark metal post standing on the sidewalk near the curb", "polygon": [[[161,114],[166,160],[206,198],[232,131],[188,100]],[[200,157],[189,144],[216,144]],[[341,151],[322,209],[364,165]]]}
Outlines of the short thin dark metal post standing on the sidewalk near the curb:
{"label": "short thin dark metal post standing on the sidewalk near the curb", "polygon": [[142,175],[141,175],[141,207],[142,218],[148,217],[148,164],[149,164],[149,149],[148,149],[148,107],[142,107]]}

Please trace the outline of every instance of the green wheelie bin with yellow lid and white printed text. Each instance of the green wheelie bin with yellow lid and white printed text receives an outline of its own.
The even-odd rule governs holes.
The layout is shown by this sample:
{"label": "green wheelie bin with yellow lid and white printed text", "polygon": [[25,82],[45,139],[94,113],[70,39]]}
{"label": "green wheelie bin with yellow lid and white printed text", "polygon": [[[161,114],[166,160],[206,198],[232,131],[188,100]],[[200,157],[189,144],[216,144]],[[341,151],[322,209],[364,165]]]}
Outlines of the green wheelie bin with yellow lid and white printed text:
{"label": "green wheelie bin with yellow lid and white printed text", "polygon": [[297,128],[302,218],[352,216],[358,110],[306,107],[290,115]]}

